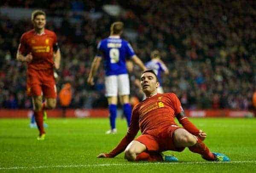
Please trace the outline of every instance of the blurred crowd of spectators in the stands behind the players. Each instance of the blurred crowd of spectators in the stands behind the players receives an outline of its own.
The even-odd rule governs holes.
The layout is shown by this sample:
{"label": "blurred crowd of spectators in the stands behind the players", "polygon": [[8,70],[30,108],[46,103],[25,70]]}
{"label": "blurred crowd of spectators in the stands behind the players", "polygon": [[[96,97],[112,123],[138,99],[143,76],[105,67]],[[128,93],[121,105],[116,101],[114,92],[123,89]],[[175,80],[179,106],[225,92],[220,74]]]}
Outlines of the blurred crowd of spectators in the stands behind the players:
{"label": "blurred crowd of spectators in the stands behind the players", "polygon": [[[16,6],[10,2],[5,1],[2,5]],[[25,0],[30,2],[28,5],[23,0],[20,2],[24,8],[40,7],[31,3],[33,1]],[[130,41],[143,62],[150,60],[152,50],[161,52],[161,58],[170,70],[169,76],[163,76],[164,91],[175,92],[184,108],[252,108],[252,96],[256,91],[254,1],[113,0],[108,3],[122,6],[125,9],[122,15],[116,18],[102,11],[100,0],[60,4],[53,0],[47,3],[49,10],[46,12],[50,15],[54,15],[61,4],[61,8],[67,11],[86,10],[103,14],[96,20],[83,14],[78,23],[70,22],[70,14],[64,15],[60,26],[47,21],[47,28],[58,35],[61,48],[58,88],[66,82],[70,82],[73,88],[70,107],[107,106],[103,68],[97,73],[96,85],[88,86],[86,79],[97,43],[108,37],[112,22],[121,20],[126,28],[124,38]],[[32,106],[25,92],[26,65],[15,60],[20,36],[31,28],[30,19],[15,21],[0,15],[2,108]],[[136,37],[129,37],[134,35]],[[139,77],[140,71],[134,67],[130,74],[131,96],[142,99]]]}

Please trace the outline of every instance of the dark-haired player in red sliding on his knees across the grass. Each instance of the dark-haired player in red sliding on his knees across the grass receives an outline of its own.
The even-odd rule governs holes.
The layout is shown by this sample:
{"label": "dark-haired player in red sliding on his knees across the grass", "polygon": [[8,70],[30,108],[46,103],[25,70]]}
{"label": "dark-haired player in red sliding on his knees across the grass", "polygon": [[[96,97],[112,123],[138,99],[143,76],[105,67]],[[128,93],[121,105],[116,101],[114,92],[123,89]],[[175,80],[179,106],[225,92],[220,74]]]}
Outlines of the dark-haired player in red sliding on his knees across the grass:
{"label": "dark-haired player in red sliding on his knees across the grass", "polygon": [[[140,82],[146,99],[134,107],[126,136],[110,153],[101,153],[98,157],[113,158],[125,151],[128,161],[177,162],[174,156],[164,156],[161,152],[181,152],[188,147],[208,161],[230,161],[224,154],[210,152],[203,143],[207,134],[184,115],[174,93],[157,94],[159,82],[153,70],[144,71]],[[175,117],[183,128],[177,126]],[[139,130],[142,135],[134,140]]]}

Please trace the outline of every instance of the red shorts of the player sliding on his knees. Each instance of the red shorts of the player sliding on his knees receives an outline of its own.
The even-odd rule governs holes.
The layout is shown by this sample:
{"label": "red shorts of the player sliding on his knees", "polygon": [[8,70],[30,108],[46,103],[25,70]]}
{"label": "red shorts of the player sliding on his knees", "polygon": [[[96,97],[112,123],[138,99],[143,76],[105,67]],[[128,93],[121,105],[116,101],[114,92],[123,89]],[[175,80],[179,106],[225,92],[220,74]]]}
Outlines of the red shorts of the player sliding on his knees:
{"label": "red shorts of the player sliding on his knees", "polygon": [[160,130],[149,130],[135,140],[144,144],[148,151],[162,152],[172,150],[181,152],[185,147],[175,147],[172,140],[173,132],[178,128],[181,127],[170,125],[168,127],[161,128]]}

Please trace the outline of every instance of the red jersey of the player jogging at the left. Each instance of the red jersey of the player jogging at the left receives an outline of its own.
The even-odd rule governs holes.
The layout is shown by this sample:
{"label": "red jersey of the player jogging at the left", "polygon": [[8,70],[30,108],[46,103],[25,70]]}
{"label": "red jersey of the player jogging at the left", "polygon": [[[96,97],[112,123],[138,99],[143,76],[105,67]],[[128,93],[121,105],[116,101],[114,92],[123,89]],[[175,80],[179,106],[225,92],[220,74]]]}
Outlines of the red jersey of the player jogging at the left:
{"label": "red jersey of the player jogging at the left", "polygon": [[33,60],[28,62],[28,69],[49,69],[54,67],[53,46],[56,44],[57,36],[53,31],[44,29],[44,33],[39,35],[32,29],[21,36],[18,51],[23,55],[32,53]]}

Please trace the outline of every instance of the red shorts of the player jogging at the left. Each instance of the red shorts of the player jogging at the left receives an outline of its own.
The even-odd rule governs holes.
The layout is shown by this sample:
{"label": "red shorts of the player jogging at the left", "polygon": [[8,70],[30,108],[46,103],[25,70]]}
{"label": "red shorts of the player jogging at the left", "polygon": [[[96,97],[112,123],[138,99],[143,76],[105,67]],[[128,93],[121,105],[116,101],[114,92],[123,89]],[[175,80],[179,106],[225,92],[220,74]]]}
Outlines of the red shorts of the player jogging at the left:
{"label": "red shorts of the player jogging at the left", "polygon": [[45,98],[56,98],[57,90],[53,70],[35,70],[27,71],[27,94],[28,96],[41,96]]}

